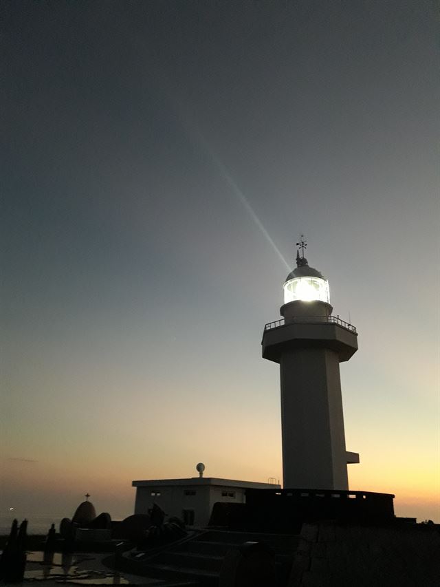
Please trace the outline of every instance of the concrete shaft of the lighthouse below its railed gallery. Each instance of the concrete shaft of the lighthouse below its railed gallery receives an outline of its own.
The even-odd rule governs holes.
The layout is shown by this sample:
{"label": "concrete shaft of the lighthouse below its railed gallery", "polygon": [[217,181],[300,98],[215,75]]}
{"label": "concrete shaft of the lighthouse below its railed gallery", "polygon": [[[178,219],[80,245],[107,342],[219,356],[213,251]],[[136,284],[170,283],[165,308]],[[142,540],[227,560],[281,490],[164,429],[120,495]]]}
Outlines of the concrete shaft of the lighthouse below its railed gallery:
{"label": "concrete shaft of the lighthouse below its railed gallery", "polygon": [[283,486],[349,489],[338,354],[285,350],[280,367]]}

